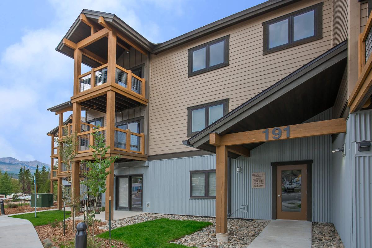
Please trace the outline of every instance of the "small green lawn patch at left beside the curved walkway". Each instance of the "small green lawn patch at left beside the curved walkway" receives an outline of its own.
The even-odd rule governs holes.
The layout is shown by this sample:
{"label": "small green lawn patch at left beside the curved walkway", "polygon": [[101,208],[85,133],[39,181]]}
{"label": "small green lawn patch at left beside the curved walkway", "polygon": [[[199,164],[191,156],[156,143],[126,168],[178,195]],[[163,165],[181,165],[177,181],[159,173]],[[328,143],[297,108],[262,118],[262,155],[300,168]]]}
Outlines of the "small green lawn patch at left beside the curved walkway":
{"label": "small green lawn patch at left beside the curved walkway", "polygon": [[[63,220],[63,210],[37,212],[36,218],[35,212],[25,213],[23,215],[12,215],[9,217],[26,219],[31,221],[33,226],[42,226],[49,224],[49,222],[53,222],[55,219]],[[68,217],[70,217],[70,211],[66,211],[66,218]]]}

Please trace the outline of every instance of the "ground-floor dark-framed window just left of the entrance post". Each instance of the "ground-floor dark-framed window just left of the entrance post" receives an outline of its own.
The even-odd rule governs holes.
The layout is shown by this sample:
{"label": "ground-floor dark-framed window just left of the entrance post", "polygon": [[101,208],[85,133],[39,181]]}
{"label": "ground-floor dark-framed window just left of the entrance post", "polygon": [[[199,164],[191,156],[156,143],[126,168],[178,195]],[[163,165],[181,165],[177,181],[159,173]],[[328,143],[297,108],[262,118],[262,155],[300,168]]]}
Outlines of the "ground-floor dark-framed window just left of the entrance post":
{"label": "ground-floor dark-framed window just left of the entrance post", "polygon": [[190,198],[216,197],[216,170],[190,171]]}

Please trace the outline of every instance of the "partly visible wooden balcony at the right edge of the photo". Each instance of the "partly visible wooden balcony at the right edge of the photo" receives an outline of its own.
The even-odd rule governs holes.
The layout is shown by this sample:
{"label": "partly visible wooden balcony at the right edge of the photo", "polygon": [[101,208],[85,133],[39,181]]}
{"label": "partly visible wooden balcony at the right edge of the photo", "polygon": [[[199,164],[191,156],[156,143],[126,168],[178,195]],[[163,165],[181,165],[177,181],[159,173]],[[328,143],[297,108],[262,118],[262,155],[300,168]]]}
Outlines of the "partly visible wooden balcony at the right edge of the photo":
{"label": "partly visible wooden balcony at the right edge of the photo", "polygon": [[358,69],[359,76],[348,100],[350,113],[371,106],[372,91],[372,15],[369,15],[366,27],[359,35]]}

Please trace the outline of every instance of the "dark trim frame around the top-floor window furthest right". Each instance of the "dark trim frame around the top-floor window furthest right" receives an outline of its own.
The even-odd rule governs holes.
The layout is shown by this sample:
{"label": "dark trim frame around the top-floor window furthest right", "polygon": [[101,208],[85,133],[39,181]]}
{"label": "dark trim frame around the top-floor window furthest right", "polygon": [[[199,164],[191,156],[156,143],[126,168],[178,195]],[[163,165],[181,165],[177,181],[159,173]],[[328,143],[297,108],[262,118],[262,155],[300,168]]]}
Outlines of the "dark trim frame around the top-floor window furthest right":
{"label": "dark trim frame around the top-floor window furthest right", "polygon": [[[310,10],[315,11],[315,19],[314,19],[314,30],[315,35],[304,38],[298,41],[293,41],[293,17],[300,15],[302,13],[308,12]],[[282,20],[288,20],[288,44],[275,46],[274,48],[269,49],[269,25],[280,22]],[[301,44],[305,44],[311,41],[316,41],[318,39],[323,38],[323,2],[314,4],[312,6],[309,6],[305,9],[297,10],[295,12],[289,13],[284,16],[277,17],[275,19],[269,20],[267,22],[262,23],[263,26],[263,55],[270,54],[272,52],[277,52],[286,48],[290,48],[293,46],[298,46]]]}

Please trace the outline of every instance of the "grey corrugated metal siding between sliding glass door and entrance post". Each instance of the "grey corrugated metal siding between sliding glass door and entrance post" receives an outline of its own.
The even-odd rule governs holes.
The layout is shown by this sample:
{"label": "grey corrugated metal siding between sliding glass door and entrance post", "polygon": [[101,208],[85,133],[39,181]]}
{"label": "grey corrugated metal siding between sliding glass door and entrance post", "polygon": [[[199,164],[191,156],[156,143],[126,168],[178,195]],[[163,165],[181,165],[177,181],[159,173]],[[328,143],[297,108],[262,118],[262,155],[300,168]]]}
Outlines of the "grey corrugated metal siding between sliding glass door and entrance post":
{"label": "grey corrugated metal siding between sliding glass door and entrance post", "polygon": [[215,216],[214,199],[189,198],[189,171],[214,169],[215,160],[208,155],[147,161],[148,167],[138,166],[144,162],[121,163],[115,165],[115,175],[143,174],[144,212]]}

